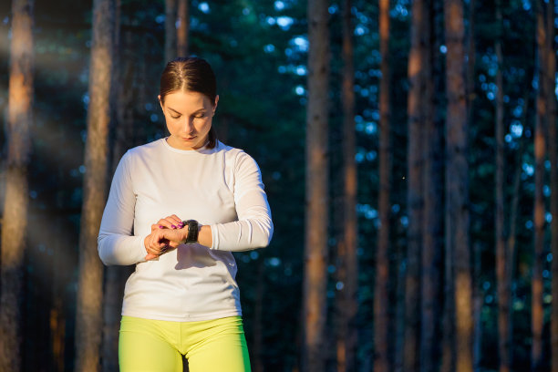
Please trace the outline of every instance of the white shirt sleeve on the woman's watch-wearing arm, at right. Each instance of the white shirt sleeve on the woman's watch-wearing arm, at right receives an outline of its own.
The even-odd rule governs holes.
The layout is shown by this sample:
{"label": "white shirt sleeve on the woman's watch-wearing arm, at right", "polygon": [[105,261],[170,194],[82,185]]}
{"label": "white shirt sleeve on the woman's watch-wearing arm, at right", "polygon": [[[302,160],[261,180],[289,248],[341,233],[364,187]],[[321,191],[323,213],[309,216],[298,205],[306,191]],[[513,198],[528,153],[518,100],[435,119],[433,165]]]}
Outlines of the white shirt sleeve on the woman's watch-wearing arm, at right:
{"label": "white shirt sleeve on the woman's watch-wearing arm, at right", "polygon": [[211,225],[212,249],[239,252],[266,247],[274,233],[271,210],[262,173],[245,152],[235,160],[233,190],[238,221]]}

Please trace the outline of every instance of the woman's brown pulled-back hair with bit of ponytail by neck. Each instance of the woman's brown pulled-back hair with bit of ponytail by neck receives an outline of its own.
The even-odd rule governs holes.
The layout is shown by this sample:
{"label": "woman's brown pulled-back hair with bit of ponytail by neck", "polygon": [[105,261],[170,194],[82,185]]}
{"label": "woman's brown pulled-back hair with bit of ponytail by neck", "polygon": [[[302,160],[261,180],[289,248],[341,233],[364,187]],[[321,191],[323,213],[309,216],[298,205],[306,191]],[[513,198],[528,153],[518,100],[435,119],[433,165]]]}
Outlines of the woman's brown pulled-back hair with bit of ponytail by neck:
{"label": "woman's brown pulled-back hair with bit of ponytail by neck", "polygon": [[[203,58],[176,57],[171,60],[160,75],[160,102],[165,96],[176,90],[202,93],[215,103],[217,97],[217,80],[212,67]],[[208,149],[217,145],[217,133],[212,126],[208,134]]]}

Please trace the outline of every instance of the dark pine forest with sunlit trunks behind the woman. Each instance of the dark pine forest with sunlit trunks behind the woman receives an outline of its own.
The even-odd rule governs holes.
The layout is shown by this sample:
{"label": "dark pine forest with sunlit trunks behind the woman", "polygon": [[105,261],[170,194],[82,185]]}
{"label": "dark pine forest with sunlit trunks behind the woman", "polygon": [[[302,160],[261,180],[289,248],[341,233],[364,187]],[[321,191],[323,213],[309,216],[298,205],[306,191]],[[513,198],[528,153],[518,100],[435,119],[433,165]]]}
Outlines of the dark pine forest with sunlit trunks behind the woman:
{"label": "dark pine forest with sunlit trunks behind the woman", "polygon": [[[0,370],[117,371],[98,257],[160,73],[217,76],[269,246],[234,253],[254,372],[558,372],[554,0],[0,2]],[[187,367],[185,367],[187,369]]]}

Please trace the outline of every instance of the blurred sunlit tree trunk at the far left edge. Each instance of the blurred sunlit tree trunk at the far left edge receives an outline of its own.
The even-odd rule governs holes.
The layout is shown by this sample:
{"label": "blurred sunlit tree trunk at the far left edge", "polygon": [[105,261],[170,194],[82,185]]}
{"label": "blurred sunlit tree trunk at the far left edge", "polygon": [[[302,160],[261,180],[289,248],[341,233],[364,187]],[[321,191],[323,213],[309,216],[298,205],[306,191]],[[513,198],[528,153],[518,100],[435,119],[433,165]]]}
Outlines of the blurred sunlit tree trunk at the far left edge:
{"label": "blurred sunlit tree trunk at the far left edge", "polygon": [[33,1],[12,2],[12,42],[7,117],[5,202],[2,214],[0,370],[22,366],[22,305],[29,192],[30,127],[33,121]]}

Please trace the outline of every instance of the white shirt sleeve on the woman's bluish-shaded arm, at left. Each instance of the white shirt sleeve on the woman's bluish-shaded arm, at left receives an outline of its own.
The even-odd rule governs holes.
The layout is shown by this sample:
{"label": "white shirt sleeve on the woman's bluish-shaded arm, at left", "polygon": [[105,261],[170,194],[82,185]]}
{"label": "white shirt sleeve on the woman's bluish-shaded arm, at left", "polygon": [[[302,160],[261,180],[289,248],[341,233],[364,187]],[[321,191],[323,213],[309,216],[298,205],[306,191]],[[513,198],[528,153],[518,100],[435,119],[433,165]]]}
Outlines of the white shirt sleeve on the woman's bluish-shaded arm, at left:
{"label": "white shirt sleeve on the woman's bluish-shaded arm, at left", "polygon": [[144,261],[145,236],[132,235],[136,195],[129,171],[130,153],[124,154],[110,185],[109,200],[98,232],[98,256],[106,265]]}

